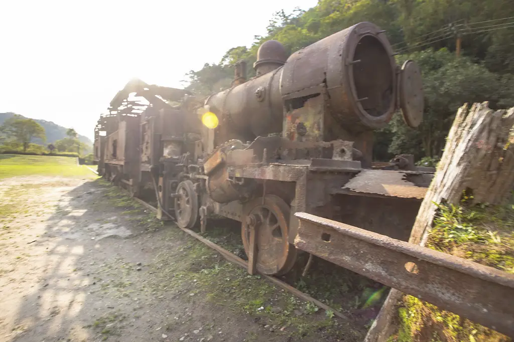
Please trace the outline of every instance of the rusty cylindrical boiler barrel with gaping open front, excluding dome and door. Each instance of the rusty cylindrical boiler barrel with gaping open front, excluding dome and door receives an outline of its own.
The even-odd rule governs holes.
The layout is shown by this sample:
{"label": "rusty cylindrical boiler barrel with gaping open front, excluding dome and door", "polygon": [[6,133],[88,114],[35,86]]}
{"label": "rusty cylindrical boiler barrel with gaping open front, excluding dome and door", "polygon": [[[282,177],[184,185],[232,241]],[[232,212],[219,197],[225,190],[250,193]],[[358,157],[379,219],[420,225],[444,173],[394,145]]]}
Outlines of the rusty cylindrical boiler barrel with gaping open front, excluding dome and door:
{"label": "rusty cylindrical boiler barrel with gaping open front, excluding dome and door", "polygon": [[213,94],[206,104],[231,130],[264,136],[282,131],[283,97],[301,98],[320,85],[329,95],[331,115],[345,130],[386,125],[397,89],[396,63],[384,32],[368,22],[348,27],[293,53],[284,66]]}

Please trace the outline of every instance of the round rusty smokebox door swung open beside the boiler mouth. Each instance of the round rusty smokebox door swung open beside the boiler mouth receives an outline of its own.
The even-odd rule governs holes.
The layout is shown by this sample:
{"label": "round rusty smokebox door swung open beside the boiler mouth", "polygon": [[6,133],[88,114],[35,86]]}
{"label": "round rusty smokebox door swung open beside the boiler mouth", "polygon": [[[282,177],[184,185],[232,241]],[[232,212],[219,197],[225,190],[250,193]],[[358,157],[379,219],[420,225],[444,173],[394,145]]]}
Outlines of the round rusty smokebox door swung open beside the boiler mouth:
{"label": "round rusty smokebox door swung open beside the boiler mouth", "polygon": [[396,108],[401,109],[403,121],[416,128],[423,120],[424,96],[421,70],[414,61],[405,61],[397,76]]}

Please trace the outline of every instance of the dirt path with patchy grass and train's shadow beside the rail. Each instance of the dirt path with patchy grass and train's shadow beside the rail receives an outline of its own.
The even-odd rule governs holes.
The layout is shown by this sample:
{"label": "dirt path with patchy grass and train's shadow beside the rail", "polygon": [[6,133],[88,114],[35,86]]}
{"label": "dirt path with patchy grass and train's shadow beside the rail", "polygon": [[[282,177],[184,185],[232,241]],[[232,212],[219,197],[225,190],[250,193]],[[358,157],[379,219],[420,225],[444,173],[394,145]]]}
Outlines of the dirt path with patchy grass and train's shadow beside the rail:
{"label": "dirt path with patchy grass and train's shadow beside the rail", "polygon": [[359,340],[102,181],[0,181],[0,341]]}

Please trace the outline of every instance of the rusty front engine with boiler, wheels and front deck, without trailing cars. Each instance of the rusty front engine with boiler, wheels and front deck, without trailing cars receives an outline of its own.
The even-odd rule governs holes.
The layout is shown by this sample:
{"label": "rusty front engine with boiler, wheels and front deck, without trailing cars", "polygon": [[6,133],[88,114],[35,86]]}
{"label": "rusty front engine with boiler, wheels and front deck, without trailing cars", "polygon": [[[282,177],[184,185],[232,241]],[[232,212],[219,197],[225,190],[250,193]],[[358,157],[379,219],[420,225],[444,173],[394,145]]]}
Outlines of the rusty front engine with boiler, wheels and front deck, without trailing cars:
{"label": "rusty front engine with boiler, wheels and front deck, without trailing cars", "polygon": [[241,221],[245,251],[270,275],[295,263],[296,212],[408,240],[434,170],[408,155],[374,163],[372,151],[374,130],[396,109],[420,123],[417,65],[399,67],[385,32],[365,22],[289,57],[267,41],[253,67],[246,80],[238,63],[233,86],[187,114],[210,128],[179,163],[163,164],[162,211],[202,231],[212,214]]}

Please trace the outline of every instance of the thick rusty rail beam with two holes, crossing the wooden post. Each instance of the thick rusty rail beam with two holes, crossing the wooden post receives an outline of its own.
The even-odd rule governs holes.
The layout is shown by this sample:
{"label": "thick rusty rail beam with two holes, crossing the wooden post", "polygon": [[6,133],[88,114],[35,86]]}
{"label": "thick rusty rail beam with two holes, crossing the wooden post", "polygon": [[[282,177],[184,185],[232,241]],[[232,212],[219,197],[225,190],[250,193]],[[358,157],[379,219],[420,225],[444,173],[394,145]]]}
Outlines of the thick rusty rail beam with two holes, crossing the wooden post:
{"label": "thick rusty rail beam with two holes, crossing the wooden post", "polygon": [[514,336],[514,274],[315,215],[295,216],[300,250]]}

